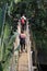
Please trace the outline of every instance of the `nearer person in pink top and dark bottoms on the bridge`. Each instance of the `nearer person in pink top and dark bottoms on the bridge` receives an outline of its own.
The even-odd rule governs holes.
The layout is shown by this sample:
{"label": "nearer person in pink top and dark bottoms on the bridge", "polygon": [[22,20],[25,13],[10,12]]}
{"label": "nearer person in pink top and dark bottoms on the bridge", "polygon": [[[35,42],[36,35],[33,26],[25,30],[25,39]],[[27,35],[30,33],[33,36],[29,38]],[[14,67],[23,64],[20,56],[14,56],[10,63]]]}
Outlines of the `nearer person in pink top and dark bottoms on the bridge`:
{"label": "nearer person in pink top and dark bottoms on the bridge", "polygon": [[25,38],[26,38],[26,35],[22,31],[21,34],[20,34],[21,51],[25,51]]}

